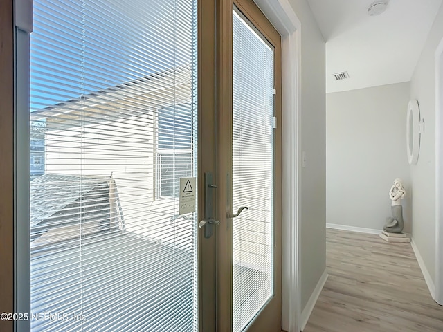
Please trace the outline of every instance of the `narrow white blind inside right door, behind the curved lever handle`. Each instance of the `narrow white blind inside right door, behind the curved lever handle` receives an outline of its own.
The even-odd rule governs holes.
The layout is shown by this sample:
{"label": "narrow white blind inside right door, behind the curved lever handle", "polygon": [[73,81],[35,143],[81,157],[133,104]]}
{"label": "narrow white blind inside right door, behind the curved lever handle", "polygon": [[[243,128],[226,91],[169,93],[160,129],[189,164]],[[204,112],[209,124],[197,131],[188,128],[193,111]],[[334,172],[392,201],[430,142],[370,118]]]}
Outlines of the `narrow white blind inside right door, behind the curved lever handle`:
{"label": "narrow white blind inside right door, behind the curved lever handle", "polygon": [[233,331],[274,293],[273,115],[273,48],[234,10]]}

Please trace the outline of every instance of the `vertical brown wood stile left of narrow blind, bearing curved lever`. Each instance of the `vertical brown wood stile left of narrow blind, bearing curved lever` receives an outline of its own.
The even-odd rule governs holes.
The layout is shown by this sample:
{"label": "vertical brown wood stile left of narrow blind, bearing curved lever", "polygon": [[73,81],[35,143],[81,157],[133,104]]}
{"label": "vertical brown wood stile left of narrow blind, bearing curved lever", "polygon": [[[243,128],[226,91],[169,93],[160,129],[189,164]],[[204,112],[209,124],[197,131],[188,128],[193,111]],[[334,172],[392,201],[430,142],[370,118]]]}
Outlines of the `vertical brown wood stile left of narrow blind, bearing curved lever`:
{"label": "vertical brown wood stile left of narrow blind, bearing curved lever", "polygon": [[230,212],[233,109],[232,0],[217,0],[217,331],[232,331],[233,242]]}

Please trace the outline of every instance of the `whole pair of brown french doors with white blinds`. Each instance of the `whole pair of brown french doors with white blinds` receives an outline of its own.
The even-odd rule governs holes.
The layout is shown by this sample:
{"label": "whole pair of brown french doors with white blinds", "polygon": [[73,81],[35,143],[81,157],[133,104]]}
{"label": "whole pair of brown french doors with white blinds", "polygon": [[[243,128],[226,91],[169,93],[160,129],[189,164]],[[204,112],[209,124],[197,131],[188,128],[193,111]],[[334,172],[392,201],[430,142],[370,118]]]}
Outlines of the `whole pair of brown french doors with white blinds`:
{"label": "whole pair of brown french doors with white blinds", "polygon": [[19,326],[280,331],[269,21],[246,0],[33,6]]}

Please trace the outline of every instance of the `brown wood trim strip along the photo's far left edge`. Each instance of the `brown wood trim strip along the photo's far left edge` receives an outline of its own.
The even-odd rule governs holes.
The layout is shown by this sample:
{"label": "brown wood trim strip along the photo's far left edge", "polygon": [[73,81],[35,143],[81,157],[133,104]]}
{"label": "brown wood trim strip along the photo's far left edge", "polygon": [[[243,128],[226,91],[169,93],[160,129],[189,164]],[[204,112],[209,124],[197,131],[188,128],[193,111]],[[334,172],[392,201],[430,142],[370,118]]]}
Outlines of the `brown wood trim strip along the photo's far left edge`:
{"label": "brown wood trim strip along the photo's far left edge", "polygon": [[[13,1],[0,1],[0,313],[14,312],[14,26]],[[12,332],[12,321],[0,320]]]}

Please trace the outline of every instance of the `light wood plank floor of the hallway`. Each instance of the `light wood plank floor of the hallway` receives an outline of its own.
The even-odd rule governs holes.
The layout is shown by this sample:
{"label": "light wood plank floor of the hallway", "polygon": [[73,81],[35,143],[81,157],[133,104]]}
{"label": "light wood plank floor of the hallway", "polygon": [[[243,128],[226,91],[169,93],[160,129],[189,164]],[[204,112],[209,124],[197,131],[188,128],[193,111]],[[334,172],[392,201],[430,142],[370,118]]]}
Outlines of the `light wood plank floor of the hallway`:
{"label": "light wood plank floor of the hallway", "polygon": [[304,332],[443,332],[409,243],[327,229],[329,278]]}

